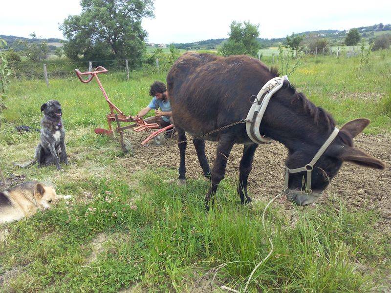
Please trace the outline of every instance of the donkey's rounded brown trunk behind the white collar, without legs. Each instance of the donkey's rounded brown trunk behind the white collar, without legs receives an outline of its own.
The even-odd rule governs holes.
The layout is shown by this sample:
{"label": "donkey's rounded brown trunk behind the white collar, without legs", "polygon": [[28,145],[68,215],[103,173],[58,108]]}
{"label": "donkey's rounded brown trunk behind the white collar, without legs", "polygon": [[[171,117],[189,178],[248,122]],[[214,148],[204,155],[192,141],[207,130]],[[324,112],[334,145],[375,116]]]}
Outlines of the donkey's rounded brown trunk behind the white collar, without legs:
{"label": "donkey's rounded brown trunk behind the white collar, without legs", "polygon": [[[197,135],[239,121],[247,116],[250,96],[275,76],[245,55],[185,53],[167,76],[174,124]],[[241,132],[245,134],[244,128]]]}

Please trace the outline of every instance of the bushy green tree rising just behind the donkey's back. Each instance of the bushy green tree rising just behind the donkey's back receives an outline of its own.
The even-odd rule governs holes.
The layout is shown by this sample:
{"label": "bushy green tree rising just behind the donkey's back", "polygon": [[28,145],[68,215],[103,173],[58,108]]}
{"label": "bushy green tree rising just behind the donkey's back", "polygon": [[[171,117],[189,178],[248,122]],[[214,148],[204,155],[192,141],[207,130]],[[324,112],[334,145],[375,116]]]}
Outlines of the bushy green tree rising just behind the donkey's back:
{"label": "bushy green tree rising just behind the donkey's back", "polygon": [[238,54],[257,56],[261,47],[257,40],[260,35],[259,24],[232,21],[230,29],[229,38],[222,44],[220,53],[224,56]]}

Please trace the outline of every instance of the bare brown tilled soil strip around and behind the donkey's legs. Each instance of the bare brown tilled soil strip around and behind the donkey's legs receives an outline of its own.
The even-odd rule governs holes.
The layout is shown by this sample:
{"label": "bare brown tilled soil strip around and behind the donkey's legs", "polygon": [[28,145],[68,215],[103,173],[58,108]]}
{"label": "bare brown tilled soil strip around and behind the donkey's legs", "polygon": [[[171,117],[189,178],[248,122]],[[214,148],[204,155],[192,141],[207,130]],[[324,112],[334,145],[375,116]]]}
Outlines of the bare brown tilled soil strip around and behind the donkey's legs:
{"label": "bare brown tilled soil strip around and behind the donkey's legs", "polygon": [[[146,132],[129,132],[127,136],[133,145],[134,157],[127,156],[119,159],[119,163],[127,170],[153,167],[177,169],[179,167],[176,135],[174,138],[166,140],[166,144],[163,146],[141,146],[140,143],[148,136]],[[377,224],[381,226],[379,228],[391,229],[391,134],[360,134],[354,139],[354,143],[356,147],[386,162],[386,169],[379,171],[344,163],[337,176],[325,190],[324,196],[312,205],[321,205],[339,197],[345,202],[348,209],[375,210],[381,217],[381,221]],[[206,156],[211,167],[216,157],[216,146],[215,142],[206,142]],[[242,151],[242,145],[233,147],[228,158],[226,177],[233,179],[239,177],[239,162]],[[258,147],[248,180],[250,196],[258,200],[270,200],[272,196],[282,191],[286,156],[287,149],[277,142]],[[187,144],[186,167],[187,178],[205,180],[191,141]],[[292,204],[288,201],[282,201],[280,204],[285,209],[293,209]]]}

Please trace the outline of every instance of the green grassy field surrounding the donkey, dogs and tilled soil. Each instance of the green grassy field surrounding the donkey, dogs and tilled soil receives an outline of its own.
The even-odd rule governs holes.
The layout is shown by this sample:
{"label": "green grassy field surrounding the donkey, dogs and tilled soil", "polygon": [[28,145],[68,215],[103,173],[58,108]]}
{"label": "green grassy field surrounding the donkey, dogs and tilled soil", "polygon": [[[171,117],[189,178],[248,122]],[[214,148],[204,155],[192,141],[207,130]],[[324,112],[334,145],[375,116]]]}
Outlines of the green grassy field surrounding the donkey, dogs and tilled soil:
{"label": "green grassy field surrounding the donkey, dogs and tilled soil", "polygon": [[[262,61],[271,65],[267,51]],[[389,133],[391,52],[372,53],[361,69],[360,64],[360,56],[307,56],[289,80],[332,113],[339,126],[368,117],[367,133]],[[121,71],[101,81],[115,104],[136,114],[150,100],[149,85],[164,81],[165,74],[136,70],[127,81]],[[17,169],[12,162],[33,156],[39,134],[18,134],[14,127],[38,128],[40,105],[49,99],[63,105],[71,164],[62,171]],[[5,175],[49,182],[57,193],[73,198],[0,226],[0,277],[5,276],[0,292],[192,292],[202,275],[224,264],[214,288],[242,291],[270,250],[268,235],[275,250],[252,277],[249,292],[387,290],[391,234],[374,229],[379,222],[374,211],[348,210],[343,201],[295,208],[296,224],[291,225],[286,211],[273,204],[265,234],[261,215],[267,202],[239,206],[236,178],[221,182],[216,209],[207,213],[203,196],[208,182],[164,183],[163,178],[177,176],[174,166],[125,168],[129,157],[118,143],[93,133],[105,127],[108,111],[96,84],[75,77],[51,79],[50,87],[42,80],[13,81],[6,103],[0,129]],[[211,291],[208,282],[200,284]]]}

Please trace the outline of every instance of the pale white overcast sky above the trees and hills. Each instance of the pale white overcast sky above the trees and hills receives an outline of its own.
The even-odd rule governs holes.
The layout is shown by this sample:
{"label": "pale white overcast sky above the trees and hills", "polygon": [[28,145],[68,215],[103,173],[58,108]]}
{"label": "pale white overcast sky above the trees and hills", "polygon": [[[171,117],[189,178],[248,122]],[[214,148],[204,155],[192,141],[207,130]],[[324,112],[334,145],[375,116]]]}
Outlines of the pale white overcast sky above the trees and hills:
{"label": "pale white overcast sky above the trees and hills", "polygon": [[[42,38],[63,38],[58,23],[81,11],[79,0],[2,2],[0,35],[28,37],[35,32]],[[226,38],[234,20],[259,23],[261,38],[391,22],[390,0],[363,5],[349,0],[155,0],[154,7],[155,18],[143,20],[143,27],[148,41],[158,43]]]}

